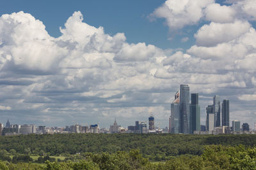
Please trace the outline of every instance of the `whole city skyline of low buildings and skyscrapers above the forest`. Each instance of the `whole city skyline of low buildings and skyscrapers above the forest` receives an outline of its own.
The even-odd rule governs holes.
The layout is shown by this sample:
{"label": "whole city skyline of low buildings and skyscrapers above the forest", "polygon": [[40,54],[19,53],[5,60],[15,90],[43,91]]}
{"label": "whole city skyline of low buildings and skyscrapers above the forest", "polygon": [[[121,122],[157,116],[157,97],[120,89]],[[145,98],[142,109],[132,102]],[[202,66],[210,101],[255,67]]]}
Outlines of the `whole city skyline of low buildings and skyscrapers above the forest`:
{"label": "whole city skyline of low buildings and skyscrapers above the forest", "polygon": [[[190,97],[190,99],[189,99]],[[191,101],[191,102],[189,102]],[[175,93],[174,101],[170,107],[169,126],[160,129],[155,126],[154,115],[151,113],[147,121],[135,121],[134,125],[127,128],[118,125],[116,122],[107,127],[100,127],[99,124],[86,125],[66,125],[66,127],[45,127],[45,125],[35,124],[10,124],[9,119],[6,125],[0,124],[0,134],[3,136],[13,136],[19,134],[55,134],[55,133],[171,133],[171,134],[256,134],[252,131],[248,123],[241,124],[239,120],[232,120],[230,124],[230,101],[220,96],[213,97],[212,105],[205,107],[205,125],[200,124],[199,94],[189,93],[189,85],[180,85],[180,90]],[[256,124],[255,124],[256,125]],[[256,127],[255,127],[256,128]]]}

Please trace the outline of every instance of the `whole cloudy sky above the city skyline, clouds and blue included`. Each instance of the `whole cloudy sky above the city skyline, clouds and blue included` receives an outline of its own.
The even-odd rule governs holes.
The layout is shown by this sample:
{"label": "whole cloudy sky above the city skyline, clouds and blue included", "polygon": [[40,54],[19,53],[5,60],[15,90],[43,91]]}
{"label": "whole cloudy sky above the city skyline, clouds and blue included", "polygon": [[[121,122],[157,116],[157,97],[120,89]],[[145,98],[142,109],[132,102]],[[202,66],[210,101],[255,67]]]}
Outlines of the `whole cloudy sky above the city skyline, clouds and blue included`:
{"label": "whole cloudy sky above the city skyline, clouds and blue included", "polygon": [[3,1],[0,122],[168,126],[180,84],[256,122],[256,1]]}

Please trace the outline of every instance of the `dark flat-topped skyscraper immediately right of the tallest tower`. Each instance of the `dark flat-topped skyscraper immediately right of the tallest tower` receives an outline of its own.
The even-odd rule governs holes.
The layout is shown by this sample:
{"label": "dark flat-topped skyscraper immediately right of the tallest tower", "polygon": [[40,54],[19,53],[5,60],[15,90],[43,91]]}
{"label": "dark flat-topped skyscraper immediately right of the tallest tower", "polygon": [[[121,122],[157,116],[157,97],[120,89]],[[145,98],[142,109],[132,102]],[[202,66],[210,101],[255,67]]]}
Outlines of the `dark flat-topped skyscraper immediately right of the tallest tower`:
{"label": "dark flat-topped skyscraper immediately right of the tallest tower", "polygon": [[190,133],[200,131],[200,106],[198,105],[198,93],[191,94],[190,104]]}

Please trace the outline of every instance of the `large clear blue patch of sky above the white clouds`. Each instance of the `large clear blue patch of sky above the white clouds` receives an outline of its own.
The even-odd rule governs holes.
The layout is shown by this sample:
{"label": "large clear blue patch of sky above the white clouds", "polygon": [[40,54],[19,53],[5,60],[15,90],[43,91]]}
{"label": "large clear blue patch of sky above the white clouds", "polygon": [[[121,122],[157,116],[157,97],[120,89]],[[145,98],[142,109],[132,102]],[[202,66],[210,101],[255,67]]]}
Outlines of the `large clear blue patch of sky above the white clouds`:
{"label": "large clear blue patch of sky above the white clouds", "polygon": [[[169,31],[163,24],[163,19],[150,22],[148,15],[164,1],[4,1],[0,12],[13,13],[24,11],[31,13],[36,19],[44,22],[46,30],[51,36],[61,36],[60,27],[63,27],[67,18],[74,11],[81,11],[84,21],[95,27],[102,26],[108,34],[124,32],[129,43],[145,41],[160,48],[189,47],[188,43],[181,43],[180,38],[191,36],[188,32]],[[15,4],[15,6],[13,6]],[[197,27],[197,26],[196,26]],[[196,29],[191,27],[195,32]],[[177,34],[178,33],[178,34]],[[170,41],[168,38],[172,37]],[[191,36],[193,37],[193,35]]]}

